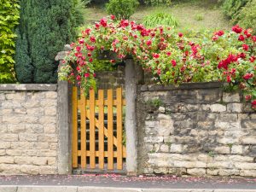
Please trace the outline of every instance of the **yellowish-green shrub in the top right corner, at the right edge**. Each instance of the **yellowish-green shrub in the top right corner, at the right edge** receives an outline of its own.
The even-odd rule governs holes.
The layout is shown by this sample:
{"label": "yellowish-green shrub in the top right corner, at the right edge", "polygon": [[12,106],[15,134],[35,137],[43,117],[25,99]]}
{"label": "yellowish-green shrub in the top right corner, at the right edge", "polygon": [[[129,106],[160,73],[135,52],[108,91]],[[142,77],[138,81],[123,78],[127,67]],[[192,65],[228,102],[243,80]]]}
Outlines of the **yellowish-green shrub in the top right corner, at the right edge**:
{"label": "yellowish-green shrub in the top right corner, at the right edge", "polygon": [[246,27],[253,28],[254,33],[256,30],[256,0],[247,3],[247,5],[241,9],[240,14],[237,16],[238,24]]}

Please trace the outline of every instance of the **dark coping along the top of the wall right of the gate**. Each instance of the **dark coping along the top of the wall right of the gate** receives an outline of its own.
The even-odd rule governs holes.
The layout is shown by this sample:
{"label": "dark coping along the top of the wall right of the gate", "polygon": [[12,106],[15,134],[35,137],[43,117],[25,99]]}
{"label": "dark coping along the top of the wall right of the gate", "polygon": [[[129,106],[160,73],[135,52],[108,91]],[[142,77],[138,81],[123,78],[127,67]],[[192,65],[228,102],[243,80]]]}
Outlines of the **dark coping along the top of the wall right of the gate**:
{"label": "dark coping along the top of the wall right of the gate", "polygon": [[194,90],[194,89],[212,89],[223,87],[224,83],[207,82],[207,83],[184,83],[179,85],[174,84],[149,84],[138,85],[139,91],[160,91],[160,90]]}

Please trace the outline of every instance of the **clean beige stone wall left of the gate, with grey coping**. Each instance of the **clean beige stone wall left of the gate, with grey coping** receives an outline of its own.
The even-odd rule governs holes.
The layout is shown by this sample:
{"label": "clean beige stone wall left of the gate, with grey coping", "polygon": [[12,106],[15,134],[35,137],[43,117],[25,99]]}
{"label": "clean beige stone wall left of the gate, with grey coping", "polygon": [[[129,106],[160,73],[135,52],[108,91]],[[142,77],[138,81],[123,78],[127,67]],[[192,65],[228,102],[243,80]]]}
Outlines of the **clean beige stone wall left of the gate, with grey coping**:
{"label": "clean beige stone wall left of the gate, with grey coping", "polygon": [[58,172],[56,84],[0,84],[0,175]]}

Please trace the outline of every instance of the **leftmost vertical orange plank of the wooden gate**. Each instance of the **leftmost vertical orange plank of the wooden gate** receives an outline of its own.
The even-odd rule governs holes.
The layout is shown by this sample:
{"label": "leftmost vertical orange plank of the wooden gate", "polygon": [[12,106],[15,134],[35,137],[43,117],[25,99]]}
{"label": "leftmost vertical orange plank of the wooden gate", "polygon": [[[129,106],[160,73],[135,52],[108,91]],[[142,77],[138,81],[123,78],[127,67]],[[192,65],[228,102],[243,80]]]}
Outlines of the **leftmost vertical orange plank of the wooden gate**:
{"label": "leftmost vertical orange plank of the wooden gate", "polygon": [[78,167],[78,88],[72,88],[72,166]]}

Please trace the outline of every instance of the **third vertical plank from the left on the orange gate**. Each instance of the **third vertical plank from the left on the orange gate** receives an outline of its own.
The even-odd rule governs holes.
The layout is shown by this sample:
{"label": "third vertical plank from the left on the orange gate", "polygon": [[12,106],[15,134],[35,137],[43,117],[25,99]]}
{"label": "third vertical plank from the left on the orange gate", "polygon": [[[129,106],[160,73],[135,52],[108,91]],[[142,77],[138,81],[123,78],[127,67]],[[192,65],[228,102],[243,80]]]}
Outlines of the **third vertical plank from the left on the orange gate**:
{"label": "third vertical plank from the left on the orange gate", "polygon": [[90,168],[95,168],[95,91],[90,90]]}

